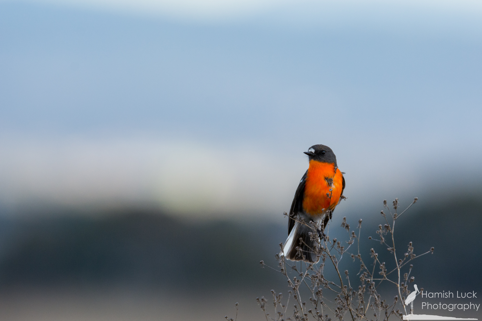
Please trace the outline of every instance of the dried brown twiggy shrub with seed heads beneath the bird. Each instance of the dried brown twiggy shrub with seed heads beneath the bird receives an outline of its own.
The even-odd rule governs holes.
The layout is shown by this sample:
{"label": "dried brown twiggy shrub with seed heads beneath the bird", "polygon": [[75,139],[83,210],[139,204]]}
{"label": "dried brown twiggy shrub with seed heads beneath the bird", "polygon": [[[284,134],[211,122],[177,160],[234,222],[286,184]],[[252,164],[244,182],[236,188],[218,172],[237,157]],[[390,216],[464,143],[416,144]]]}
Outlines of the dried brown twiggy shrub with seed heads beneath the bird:
{"label": "dried brown twiggy shrub with seed heads beneath the bird", "polygon": [[[376,230],[377,238],[369,237],[371,241],[378,241],[387,248],[387,253],[379,255],[372,248],[370,250],[370,257],[366,262],[360,253],[360,236],[362,231],[362,219],[358,221],[358,233],[355,230],[350,230],[346,217],[343,218],[341,227],[344,227],[348,233],[348,241],[344,243],[338,241],[336,238],[330,239],[329,225],[325,230],[317,222],[305,222],[304,224],[312,229],[309,233],[311,240],[315,241],[315,247],[310,248],[313,254],[319,258],[318,263],[309,263],[304,261],[288,263],[282,255],[283,244],[280,243],[281,255],[276,254],[278,267],[270,267],[286,277],[290,291],[288,292],[288,299],[286,305],[281,303],[283,295],[276,294],[271,290],[273,295],[273,315],[268,312],[268,300],[265,297],[256,298],[258,305],[264,312],[267,321],[285,321],[285,320],[317,320],[317,321],[331,321],[332,318],[343,321],[348,318],[351,321],[388,321],[390,316],[395,316],[403,320],[403,314],[407,314],[407,310],[403,302],[405,296],[403,294],[410,294],[408,284],[415,279],[410,277],[413,265],[406,265],[415,260],[417,257],[432,253],[434,248],[430,248],[423,254],[414,254],[414,246],[412,242],[408,243],[407,252],[397,256],[397,248],[395,246],[395,222],[399,219],[405,211],[407,211],[417,198],[405,209],[402,213],[398,213],[400,203],[398,199],[392,202],[393,213],[388,207],[387,201],[383,201],[384,208],[388,209],[388,214],[381,211],[380,214],[384,218],[386,224],[379,225]],[[284,213],[287,215],[286,213]],[[331,213],[328,213],[331,216]],[[387,217],[389,216],[389,217]],[[390,221],[391,219],[391,221]],[[299,245],[307,245],[302,239],[299,240]],[[353,246],[355,244],[356,246]],[[351,251],[352,246],[354,251]],[[299,258],[304,259],[301,247],[296,248]],[[340,262],[344,256],[349,255],[355,262],[359,261],[360,270],[350,273],[348,270],[342,271],[340,269]],[[387,264],[382,260],[384,256],[390,256],[395,261],[395,268],[388,271]],[[291,261],[290,261],[291,262]],[[262,267],[269,267],[260,262]],[[370,266],[373,266],[370,268]],[[327,280],[324,277],[325,268],[334,268],[336,272],[335,280]],[[376,271],[375,271],[376,270]],[[350,280],[350,275],[357,275],[360,284],[358,287]],[[353,285],[352,285],[353,283]],[[396,289],[393,299],[382,298],[377,291],[382,283],[389,283]],[[300,288],[306,287],[311,296],[309,303],[302,299]],[[423,288],[420,290],[423,291]],[[293,312],[289,309],[289,301],[293,298]],[[401,311],[403,310],[403,312]],[[410,312],[410,311],[409,311]],[[372,317],[373,316],[373,317]],[[231,319],[232,320],[232,319]]]}

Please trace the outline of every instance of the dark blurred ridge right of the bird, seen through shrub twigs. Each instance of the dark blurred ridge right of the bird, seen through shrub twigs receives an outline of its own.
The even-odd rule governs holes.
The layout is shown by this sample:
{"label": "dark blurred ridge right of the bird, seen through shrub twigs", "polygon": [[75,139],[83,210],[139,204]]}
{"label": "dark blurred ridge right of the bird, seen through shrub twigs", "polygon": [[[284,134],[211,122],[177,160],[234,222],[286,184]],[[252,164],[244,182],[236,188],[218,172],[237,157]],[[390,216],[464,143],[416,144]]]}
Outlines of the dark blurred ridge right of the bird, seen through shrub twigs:
{"label": "dark blurred ridge right of the bird, seen through shrub twigs", "polygon": [[[466,192],[462,194],[443,194],[440,198],[418,200],[408,209],[395,223],[395,247],[397,258],[403,258],[403,254],[408,250],[408,243],[413,242],[414,254],[423,254],[433,246],[434,254],[426,254],[416,258],[411,262],[414,268],[410,276],[415,277],[415,284],[425,290],[442,292],[442,290],[471,291],[482,286],[480,271],[482,266],[482,248],[480,243],[480,229],[482,227],[482,199],[480,190]],[[400,214],[413,199],[400,200],[402,206],[399,208]],[[394,213],[392,200],[388,200],[389,210]],[[387,263],[388,271],[396,267],[393,254],[387,250],[387,246],[380,244],[379,241],[368,240],[371,236],[379,239],[378,225],[382,227],[387,223],[380,214],[383,210],[387,217],[389,211],[383,208],[380,202],[380,209],[377,213],[367,215],[351,215],[353,220],[350,230],[355,230],[358,234],[358,219],[362,218],[362,234],[360,243],[360,253],[366,264],[373,263],[370,258],[370,249],[374,248],[379,254],[380,261]],[[365,216],[365,217],[363,217]],[[337,237],[344,243],[348,240],[348,233],[339,225],[342,218],[333,219],[333,228],[330,231],[331,237]],[[388,218],[390,226],[392,221]],[[334,224],[335,223],[335,224]],[[333,232],[333,233],[332,233]],[[385,236],[389,238],[389,234]],[[391,245],[391,240],[387,241]],[[356,243],[353,245],[355,246]],[[347,246],[347,245],[346,245]],[[356,248],[350,248],[350,252],[356,253]],[[373,266],[371,266],[373,267]],[[350,279],[358,286],[360,281],[354,275],[360,270],[359,260],[349,257],[344,258],[340,269],[348,269],[352,274]],[[380,270],[375,269],[375,274]],[[353,273],[356,272],[356,273]],[[402,270],[402,274],[408,272],[408,265]],[[332,277],[333,278],[333,277]],[[393,276],[392,276],[393,278]],[[410,291],[413,291],[413,284],[410,283]],[[380,288],[382,292],[392,291],[392,286],[386,283]]]}

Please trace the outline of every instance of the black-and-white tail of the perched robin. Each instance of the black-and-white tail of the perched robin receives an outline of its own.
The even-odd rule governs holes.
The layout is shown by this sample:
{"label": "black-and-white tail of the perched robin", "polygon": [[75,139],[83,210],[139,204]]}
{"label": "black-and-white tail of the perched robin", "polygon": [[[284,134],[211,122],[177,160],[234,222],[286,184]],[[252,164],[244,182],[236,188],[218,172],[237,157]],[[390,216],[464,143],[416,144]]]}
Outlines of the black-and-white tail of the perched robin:
{"label": "black-and-white tail of the perched robin", "polygon": [[[280,255],[292,261],[306,261],[316,263],[320,259],[316,257],[315,245],[316,241],[312,240],[308,233],[316,233],[313,228],[308,227],[298,221],[291,229],[290,235],[284,242],[283,250]],[[301,241],[300,241],[301,238]],[[317,238],[317,236],[315,237]],[[296,249],[299,246],[299,249]]]}

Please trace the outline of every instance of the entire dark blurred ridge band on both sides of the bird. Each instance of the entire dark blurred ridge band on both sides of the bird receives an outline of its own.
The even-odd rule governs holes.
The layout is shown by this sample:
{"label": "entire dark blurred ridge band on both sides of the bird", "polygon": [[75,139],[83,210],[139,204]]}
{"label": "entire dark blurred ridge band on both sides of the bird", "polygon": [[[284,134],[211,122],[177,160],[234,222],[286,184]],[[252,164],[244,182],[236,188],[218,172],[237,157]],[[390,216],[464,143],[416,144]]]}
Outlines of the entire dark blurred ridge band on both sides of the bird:
{"label": "entire dark blurred ridge band on both sides of the bird", "polygon": [[[411,200],[401,201],[403,207]],[[406,252],[409,241],[414,242],[415,254],[435,247],[435,254],[414,262],[411,276],[419,287],[462,291],[482,285],[481,205],[477,195],[419,200],[397,220],[399,254]],[[330,236],[346,240],[347,232],[340,227],[342,217],[336,214]],[[388,251],[368,240],[368,236],[377,236],[378,224],[384,224],[379,212],[360,218],[361,253],[369,258],[373,247],[386,257],[388,268],[394,266]],[[120,284],[193,291],[251,288],[262,294],[270,289],[288,290],[279,273],[259,265],[264,260],[276,266],[274,254],[287,233],[284,225],[254,220],[186,223],[152,210],[122,210],[99,219],[55,215],[1,220],[0,282],[4,288]],[[355,229],[357,221],[349,222],[350,229]],[[349,257],[341,264],[355,272],[352,277],[357,284],[359,267]]]}

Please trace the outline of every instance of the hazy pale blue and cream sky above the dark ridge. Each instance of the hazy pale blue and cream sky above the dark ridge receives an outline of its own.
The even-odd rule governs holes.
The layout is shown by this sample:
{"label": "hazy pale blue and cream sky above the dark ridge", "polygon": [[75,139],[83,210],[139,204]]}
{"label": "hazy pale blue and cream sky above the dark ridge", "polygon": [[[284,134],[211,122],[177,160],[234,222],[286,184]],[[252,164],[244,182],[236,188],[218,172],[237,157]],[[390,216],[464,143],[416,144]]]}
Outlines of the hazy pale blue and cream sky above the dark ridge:
{"label": "hazy pale blue and cream sky above the dark ridge", "polygon": [[1,1],[1,206],[276,216],[320,143],[347,172],[347,212],[476,185],[481,13],[470,1]]}

